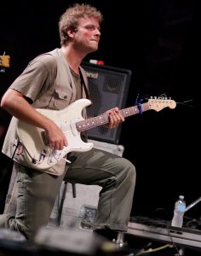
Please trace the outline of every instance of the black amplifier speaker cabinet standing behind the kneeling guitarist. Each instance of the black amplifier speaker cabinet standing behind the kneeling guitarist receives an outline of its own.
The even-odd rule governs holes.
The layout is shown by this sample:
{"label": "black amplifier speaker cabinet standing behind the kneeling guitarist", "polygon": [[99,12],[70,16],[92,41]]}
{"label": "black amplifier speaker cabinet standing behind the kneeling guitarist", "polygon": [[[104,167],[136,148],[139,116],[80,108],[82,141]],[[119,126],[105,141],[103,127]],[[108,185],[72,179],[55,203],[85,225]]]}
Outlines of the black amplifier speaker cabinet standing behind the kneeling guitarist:
{"label": "black amplifier speaker cabinet standing behind the kneeling guitarist", "polygon": [[[126,105],[131,71],[118,67],[82,63],[89,79],[89,93],[93,102],[87,109],[88,116],[96,116],[114,107]],[[118,144],[122,125],[116,129],[99,126],[88,131],[91,139]]]}

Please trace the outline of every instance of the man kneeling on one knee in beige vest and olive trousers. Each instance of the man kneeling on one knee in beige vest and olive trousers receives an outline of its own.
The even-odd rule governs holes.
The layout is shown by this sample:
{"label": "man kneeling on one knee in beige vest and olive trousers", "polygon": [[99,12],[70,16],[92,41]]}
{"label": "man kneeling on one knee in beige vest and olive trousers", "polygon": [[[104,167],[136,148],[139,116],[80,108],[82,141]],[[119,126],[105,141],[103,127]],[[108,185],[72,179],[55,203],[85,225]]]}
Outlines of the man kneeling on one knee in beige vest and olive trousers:
{"label": "man kneeling on one knee in beige vest and olive trousers", "polygon": [[[0,227],[18,230],[29,240],[40,227],[48,224],[64,177],[68,182],[102,187],[95,230],[100,233],[101,230],[103,233],[104,230],[107,233],[108,230],[127,230],[135,189],[135,166],[129,160],[92,148],[67,154],[71,163],[58,160],[49,168],[38,170],[34,168],[34,159],[28,163],[25,158],[32,145],[20,141],[16,131],[20,120],[42,129],[53,152],[68,146],[64,130],[35,108],[60,111],[78,99],[89,97],[86,75],[80,64],[87,54],[98,49],[101,20],[100,11],[88,4],[75,4],[66,9],[59,22],[60,49],[31,61],[2,98],[2,108],[13,115],[3,154],[14,159],[18,196],[16,215],[3,214]],[[107,114],[109,128],[117,127],[124,120],[117,107]],[[84,109],[83,116],[86,117]],[[30,130],[32,132],[32,128]],[[82,138],[86,141],[83,132]],[[45,154],[41,155],[42,160]]]}

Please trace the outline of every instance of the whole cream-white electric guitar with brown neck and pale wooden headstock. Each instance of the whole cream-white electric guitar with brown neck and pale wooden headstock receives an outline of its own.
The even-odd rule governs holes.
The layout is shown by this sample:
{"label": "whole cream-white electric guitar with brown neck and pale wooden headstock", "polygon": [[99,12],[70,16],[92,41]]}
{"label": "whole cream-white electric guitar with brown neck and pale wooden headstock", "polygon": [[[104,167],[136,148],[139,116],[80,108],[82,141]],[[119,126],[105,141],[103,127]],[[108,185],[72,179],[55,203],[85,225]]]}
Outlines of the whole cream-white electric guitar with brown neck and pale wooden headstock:
{"label": "whole cream-white electric guitar with brown neck and pale wooden headstock", "polygon": [[[56,125],[64,132],[68,146],[62,150],[54,150],[49,147],[49,142],[43,129],[28,125],[18,121],[17,133],[20,143],[23,146],[23,155],[26,163],[34,169],[45,170],[54,166],[60,160],[66,160],[66,154],[72,151],[88,151],[93,148],[93,143],[84,143],[80,137],[81,131],[86,131],[100,125],[106,125],[109,122],[107,113],[90,119],[83,119],[83,108],[88,107],[91,102],[87,99],[81,99],[73,102],[67,108],[62,110],[49,110],[37,108],[39,113],[52,119]],[[120,113],[124,118],[136,113],[147,110],[160,111],[163,108],[175,108],[176,103],[169,99],[149,99],[148,102],[140,106],[124,108]],[[139,108],[140,107],[140,108]],[[67,161],[67,160],[66,160]]]}

